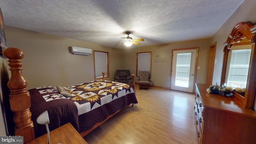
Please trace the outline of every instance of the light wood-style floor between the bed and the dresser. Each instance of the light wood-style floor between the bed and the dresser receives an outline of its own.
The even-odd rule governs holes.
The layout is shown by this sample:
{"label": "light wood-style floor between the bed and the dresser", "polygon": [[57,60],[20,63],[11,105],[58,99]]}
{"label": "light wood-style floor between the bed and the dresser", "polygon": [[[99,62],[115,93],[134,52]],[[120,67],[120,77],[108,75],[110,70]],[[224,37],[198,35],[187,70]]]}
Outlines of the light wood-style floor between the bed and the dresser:
{"label": "light wood-style floor between the bed and the dresser", "polygon": [[197,144],[195,95],[136,85],[136,108],[128,106],[84,137],[88,144]]}

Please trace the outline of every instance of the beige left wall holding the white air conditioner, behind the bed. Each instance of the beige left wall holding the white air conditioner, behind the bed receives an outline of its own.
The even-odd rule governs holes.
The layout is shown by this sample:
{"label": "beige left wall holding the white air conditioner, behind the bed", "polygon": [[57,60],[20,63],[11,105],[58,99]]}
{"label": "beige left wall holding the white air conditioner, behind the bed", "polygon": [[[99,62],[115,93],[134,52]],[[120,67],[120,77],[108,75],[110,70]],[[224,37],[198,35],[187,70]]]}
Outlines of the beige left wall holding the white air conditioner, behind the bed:
{"label": "beige left wall holding the white air conditioner, behind the bed", "polygon": [[115,48],[99,46],[6,26],[8,47],[21,49],[23,73],[28,89],[40,86],[70,86],[94,80],[93,54],[89,56],[70,53],[70,46],[109,52],[110,80],[119,68],[122,53]]}

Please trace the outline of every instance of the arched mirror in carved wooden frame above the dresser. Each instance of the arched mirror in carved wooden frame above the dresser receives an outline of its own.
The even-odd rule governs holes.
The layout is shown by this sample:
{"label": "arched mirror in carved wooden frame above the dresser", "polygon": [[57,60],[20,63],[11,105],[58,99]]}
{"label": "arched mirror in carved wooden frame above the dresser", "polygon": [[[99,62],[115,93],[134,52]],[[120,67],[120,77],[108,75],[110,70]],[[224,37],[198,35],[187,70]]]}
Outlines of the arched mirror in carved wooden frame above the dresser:
{"label": "arched mirror in carved wooden frame above the dresser", "polygon": [[[233,86],[230,83],[232,87],[242,87],[245,88],[244,96],[236,95],[235,98],[238,99],[246,108],[252,108],[254,104],[255,99],[255,92],[256,92],[256,83],[254,82],[256,80],[256,52],[255,49],[255,33],[256,33],[256,25],[252,25],[250,22],[239,22],[237,23],[234,28],[232,29],[232,32],[228,36],[227,41],[224,43],[224,55],[223,55],[223,65],[222,65],[222,74],[221,74],[221,82],[230,83],[232,81],[232,78],[229,78],[229,75],[233,78],[233,81],[239,81],[238,84],[234,84]],[[238,50],[238,51],[237,51]],[[242,51],[245,50],[245,51]],[[248,54],[248,52],[250,53]],[[234,52],[234,53],[233,53]],[[232,54],[233,53],[233,54]],[[238,54],[239,53],[239,54]],[[240,63],[234,64],[234,60],[232,61],[232,55],[233,57],[236,57],[238,55],[245,57],[250,57],[248,59],[241,59]],[[243,64],[241,62],[243,60]],[[247,68],[246,64],[247,63]],[[231,65],[231,66],[230,66]],[[234,65],[243,65],[243,72],[238,72],[238,69],[241,69],[241,66],[235,66],[238,67],[238,69],[234,68]],[[248,72],[247,72],[248,71]],[[231,74],[233,72],[233,74]],[[236,73],[235,73],[236,72]],[[241,75],[242,76],[239,76]],[[245,75],[247,74],[247,76]],[[247,80],[245,80],[247,79]],[[228,85],[228,84],[227,84]],[[240,86],[239,86],[240,85]]]}

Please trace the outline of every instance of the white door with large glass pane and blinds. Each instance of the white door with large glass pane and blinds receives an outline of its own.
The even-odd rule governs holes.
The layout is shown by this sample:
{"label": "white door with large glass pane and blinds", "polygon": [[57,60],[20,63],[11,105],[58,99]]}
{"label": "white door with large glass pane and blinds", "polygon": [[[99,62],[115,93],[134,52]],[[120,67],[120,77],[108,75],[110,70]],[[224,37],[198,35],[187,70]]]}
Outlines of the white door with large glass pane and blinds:
{"label": "white door with large glass pane and blinds", "polygon": [[174,50],[171,89],[193,92],[196,49]]}

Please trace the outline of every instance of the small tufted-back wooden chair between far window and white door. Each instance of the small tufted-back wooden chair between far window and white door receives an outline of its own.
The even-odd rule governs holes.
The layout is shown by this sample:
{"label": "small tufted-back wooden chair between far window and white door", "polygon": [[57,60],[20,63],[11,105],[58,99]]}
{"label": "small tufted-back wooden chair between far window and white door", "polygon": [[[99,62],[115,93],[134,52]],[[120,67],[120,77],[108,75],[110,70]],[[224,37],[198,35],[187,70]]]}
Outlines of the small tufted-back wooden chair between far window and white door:
{"label": "small tufted-back wooden chair between far window and white door", "polygon": [[140,84],[140,90],[141,89],[147,89],[149,88],[150,84],[150,75],[149,71],[139,71],[139,84]]}

